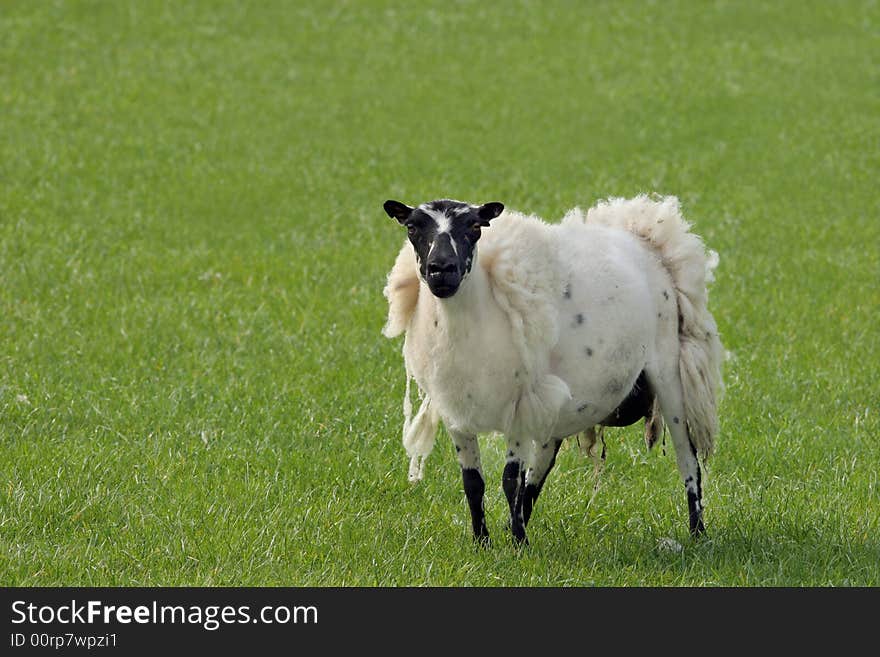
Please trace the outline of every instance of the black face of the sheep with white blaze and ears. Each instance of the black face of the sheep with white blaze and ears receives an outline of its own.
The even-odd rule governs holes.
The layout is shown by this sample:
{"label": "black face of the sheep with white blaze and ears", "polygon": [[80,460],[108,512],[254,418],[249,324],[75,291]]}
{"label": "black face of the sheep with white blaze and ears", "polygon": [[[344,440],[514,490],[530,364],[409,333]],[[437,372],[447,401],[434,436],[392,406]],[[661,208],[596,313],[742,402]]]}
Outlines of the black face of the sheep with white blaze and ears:
{"label": "black face of the sheep with white blaze and ears", "polygon": [[501,203],[469,205],[443,199],[411,208],[385,201],[385,212],[406,226],[419,273],[434,296],[451,297],[471,271],[480,229],[501,214]]}

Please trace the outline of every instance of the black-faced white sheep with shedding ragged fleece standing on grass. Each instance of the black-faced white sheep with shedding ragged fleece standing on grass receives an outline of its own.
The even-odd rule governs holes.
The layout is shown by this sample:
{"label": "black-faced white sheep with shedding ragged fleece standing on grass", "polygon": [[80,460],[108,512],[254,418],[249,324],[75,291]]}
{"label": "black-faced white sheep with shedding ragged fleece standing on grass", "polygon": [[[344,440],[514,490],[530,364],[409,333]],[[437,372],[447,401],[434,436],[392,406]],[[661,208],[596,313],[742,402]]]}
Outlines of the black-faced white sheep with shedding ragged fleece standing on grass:
{"label": "black-faced white sheep with shedding ragged fleece standing on grass", "polygon": [[612,198],[558,224],[498,202],[384,209],[408,237],[384,289],[383,334],[405,333],[409,478],[422,478],[442,420],[474,538],[488,541],[477,436],[503,434],[510,531],[527,543],[566,437],[645,418],[651,445],[665,420],[689,529],[702,534],[700,461],[718,433],[723,354],[707,308],[718,256],[690,232],[678,199]]}

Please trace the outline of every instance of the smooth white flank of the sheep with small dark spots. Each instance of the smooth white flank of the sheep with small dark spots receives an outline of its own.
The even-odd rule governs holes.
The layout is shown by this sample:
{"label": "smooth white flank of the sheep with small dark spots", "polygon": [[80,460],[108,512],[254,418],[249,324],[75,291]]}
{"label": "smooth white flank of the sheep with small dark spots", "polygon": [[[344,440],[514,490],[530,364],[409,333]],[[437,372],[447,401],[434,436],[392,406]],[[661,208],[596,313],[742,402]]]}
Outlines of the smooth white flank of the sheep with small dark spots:
{"label": "smooth white flank of the sheep with small dark spots", "polygon": [[551,372],[571,390],[553,430],[564,438],[608,417],[678,336],[674,301],[663,297],[669,275],[637,238],[573,222],[559,236],[573,281],[571,298],[556,304],[562,330],[550,356]]}

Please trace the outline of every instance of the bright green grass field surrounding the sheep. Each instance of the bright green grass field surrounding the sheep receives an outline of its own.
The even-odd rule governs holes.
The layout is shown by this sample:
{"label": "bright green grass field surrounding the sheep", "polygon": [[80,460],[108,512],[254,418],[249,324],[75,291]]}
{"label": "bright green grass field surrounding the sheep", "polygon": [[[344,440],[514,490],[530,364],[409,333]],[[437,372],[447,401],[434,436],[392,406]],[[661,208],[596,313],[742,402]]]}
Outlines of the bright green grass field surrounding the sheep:
{"label": "bright green grass field surrounding the sheep", "polygon": [[[0,2],[0,583],[880,585],[876,2]],[[560,454],[407,482],[386,198],[656,191],[721,265],[706,540]],[[676,552],[664,539],[682,544]]]}

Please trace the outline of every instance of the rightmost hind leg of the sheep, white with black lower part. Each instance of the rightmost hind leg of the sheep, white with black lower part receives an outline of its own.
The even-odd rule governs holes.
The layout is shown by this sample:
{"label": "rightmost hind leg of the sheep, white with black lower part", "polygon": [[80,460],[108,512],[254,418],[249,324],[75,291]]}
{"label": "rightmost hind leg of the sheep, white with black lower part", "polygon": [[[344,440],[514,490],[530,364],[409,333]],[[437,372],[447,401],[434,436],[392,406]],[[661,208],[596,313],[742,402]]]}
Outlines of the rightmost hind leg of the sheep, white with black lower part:
{"label": "rightmost hind leg of the sheep, white with black lower part", "polygon": [[700,473],[700,461],[697,450],[688,436],[687,423],[684,416],[684,401],[681,379],[676,371],[667,377],[664,383],[654,385],[660,400],[660,410],[669,427],[672,444],[675,446],[675,460],[678,472],[684,481],[688,499],[688,520],[691,534],[698,536],[706,531],[703,525],[703,485]]}

